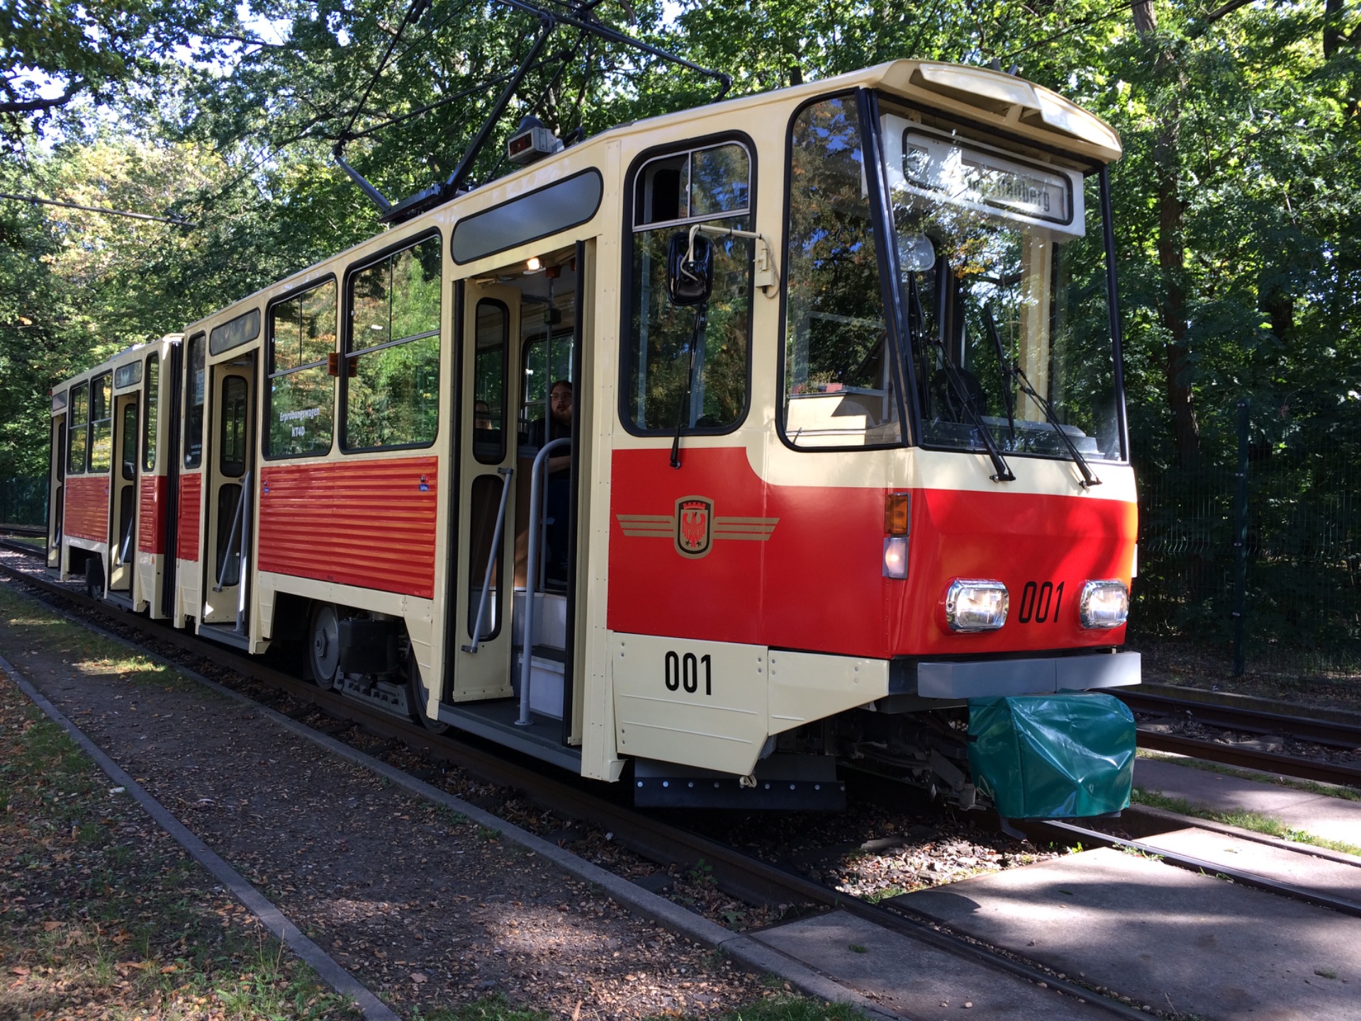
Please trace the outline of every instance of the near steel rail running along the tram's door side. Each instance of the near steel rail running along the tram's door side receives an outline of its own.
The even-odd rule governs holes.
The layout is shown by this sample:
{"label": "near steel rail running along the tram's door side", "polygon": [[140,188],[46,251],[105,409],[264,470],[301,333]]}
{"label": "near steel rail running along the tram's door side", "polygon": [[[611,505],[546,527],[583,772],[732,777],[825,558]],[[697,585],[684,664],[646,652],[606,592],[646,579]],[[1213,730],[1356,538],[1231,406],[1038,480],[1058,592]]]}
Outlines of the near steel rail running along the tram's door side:
{"label": "near steel rail running along the tram's door side", "polygon": [[[44,592],[69,599],[72,603],[122,626],[131,626],[148,638],[166,641],[178,649],[195,655],[211,655],[215,664],[242,674],[244,677],[283,690],[323,712],[347,720],[366,732],[401,742],[408,747],[426,751],[431,758],[457,765],[467,772],[502,787],[520,791],[529,800],[551,809],[554,813],[585,821],[614,834],[619,844],[655,862],[694,866],[700,862],[713,870],[715,878],[729,893],[749,903],[766,904],[814,904],[822,908],[841,909],[847,913],[879,924],[890,931],[928,943],[939,950],[973,961],[996,971],[1003,971],[1033,983],[1045,983],[1064,995],[1081,998],[1109,1011],[1115,1017],[1134,1021],[1147,1014],[1105,994],[1077,983],[1059,979],[1057,973],[1037,962],[1018,958],[1014,952],[991,947],[973,939],[942,931],[938,923],[915,916],[906,905],[879,907],[844,894],[836,889],[796,875],[789,870],[746,855],[732,847],[715,841],[693,830],[644,815],[637,810],[619,805],[597,792],[581,790],[578,783],[565,781],[546,771],[563,773],[542,762],[524,764],[506,758],[504,750],[495,753],[479,747],[463,738],[433,734],[418,723],[408,723],[388,713],[370,709],[362,702],[321,689],[314,683],[299,681],[289,674],[274,670],[257,660],[225,649],[219,644],[177,632],[170,625],[133,617],[110,607],[101,600],[49,579],[35,577],[8,564],[0,564],[0,572],[27,581]],[[178,664],[182,666],[182,664]]]}

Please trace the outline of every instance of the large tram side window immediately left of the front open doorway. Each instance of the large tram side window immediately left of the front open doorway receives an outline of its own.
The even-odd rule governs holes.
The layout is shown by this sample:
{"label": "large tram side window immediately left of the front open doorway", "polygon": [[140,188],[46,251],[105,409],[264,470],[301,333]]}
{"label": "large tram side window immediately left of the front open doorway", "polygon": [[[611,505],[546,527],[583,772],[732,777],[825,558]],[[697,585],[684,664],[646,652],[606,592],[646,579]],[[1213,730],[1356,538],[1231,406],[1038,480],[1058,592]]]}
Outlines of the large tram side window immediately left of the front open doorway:
{"label": "large tram side window immediately left of the front open doorway", "polygon": [[344,448],[427,447],[440,423],[441,248],[429,237],[350,276]]}

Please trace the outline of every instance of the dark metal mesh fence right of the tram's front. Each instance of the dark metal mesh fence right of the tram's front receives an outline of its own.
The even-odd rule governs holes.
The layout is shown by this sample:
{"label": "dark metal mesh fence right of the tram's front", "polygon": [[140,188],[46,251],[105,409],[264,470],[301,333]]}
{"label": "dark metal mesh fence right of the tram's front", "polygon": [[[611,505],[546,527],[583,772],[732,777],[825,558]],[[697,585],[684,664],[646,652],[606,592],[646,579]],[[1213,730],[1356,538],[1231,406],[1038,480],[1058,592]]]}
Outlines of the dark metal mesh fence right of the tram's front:
{"label": "dark metal mesh fence right of the tram's front", "polygon": [[1361,677],[1361,422],[1228,411],[1202,464],[1139,472],[1131,644],[1234,674]]}

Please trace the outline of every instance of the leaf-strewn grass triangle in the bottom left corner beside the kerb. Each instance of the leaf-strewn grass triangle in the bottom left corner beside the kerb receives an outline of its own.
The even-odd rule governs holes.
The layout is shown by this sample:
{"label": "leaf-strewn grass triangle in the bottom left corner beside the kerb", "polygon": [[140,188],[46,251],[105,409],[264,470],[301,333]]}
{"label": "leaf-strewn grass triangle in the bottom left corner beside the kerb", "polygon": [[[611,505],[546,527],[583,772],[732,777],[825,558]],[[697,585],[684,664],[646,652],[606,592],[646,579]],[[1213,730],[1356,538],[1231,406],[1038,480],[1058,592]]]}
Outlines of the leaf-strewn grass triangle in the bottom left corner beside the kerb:
{"label": "leaf-strewn grass triangle in the bottom left corner beside the kerb", "polygon": [[0,1017],[351,1018],[0,675]]}

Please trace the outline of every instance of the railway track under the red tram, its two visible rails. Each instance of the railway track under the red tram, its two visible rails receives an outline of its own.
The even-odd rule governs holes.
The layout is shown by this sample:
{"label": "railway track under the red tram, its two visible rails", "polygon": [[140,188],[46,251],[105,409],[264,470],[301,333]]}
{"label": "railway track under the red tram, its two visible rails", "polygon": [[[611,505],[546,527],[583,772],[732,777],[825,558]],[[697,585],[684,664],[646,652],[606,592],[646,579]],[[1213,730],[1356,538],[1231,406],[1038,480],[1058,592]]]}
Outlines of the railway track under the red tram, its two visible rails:
{"label": "railway track under the red tram, its two visible rails", "polygon": [[[33,553],[31,549],[20,550]],[[372,709],[361,702],[344,698],[335,692],[324,690],[314,683],[301,681],[276,670],[259,659],[242,656],[216,645],[176,630],[157,621],[132,617],[98,600],[90,599],[71,587],[53,583],[34,573],[20,570],[11,564],[0,564],[0,572],[39,589],[48,602],[67,600],[82,611],[106,621],[120,630],[133,630],[146,640],[165,643],[192,656],[211,656],[220,668],[230,670],[242,678],[287,696],[289,698],[316,707],[338,723],[329,732],[342,734],[351,728],[385,739],[391,746],[406,746],[418,750],[436,762],[453,765],[470,775],[499,787],[519,791],[524,798],[550,809],[554,814],[600,828],[614,834],[614,839],[653,862],[690,867],[705,864],[715,878],[734,896],[755,904],[793,904],[804,909],[840,909],[856,918],[900,933],[911,939],[927,943],[958,957],[989,968],[1010,972],[1034,983],[1045,983],[1066,995],[1082,998],[1097,1005],[1113,1017],[1147,1017],[1132,1006],[1111,999],[1093,988],[1059,977],[1053,969],[1026,960],[1025,957],[999,947],[987,946],[974,939],[953,934],[947,927],[931,919],[915,915],[908,905],[886,901],[874,904],[842,893],[822,882],[799,875],[789,869],[761,858],[749,855],[728,844],[716,841],[685,826],[646,815],[632,806],[622,805],[614,796],[587,790],[576,777],[558,773],[540,762],[517,761],[505,749],[480,746],[474,739],[437,735],[416,723]],[[61,609],[57,606],[56,609]],[[120,636],[122,637],[122,636]],[[184,666],[184,664],[177,664]],[[297,713],[290,713],[297,715]],[[342,736],[343,739],[343,736]],[[547,772],[546,772],[547,771]],[[615,792],[610,792],[611,795]],[[1273,881],[1243,870],[1232,870],[1222,864],[1202,862],[1185,855],[1169,854],[1136,840],[1101,833],[1068,822],[1047,821],[1023,824],[1028,836],[1037,844],[1044,841],[1070,845],[1081,843],[1085,848],[1115,847],[1150,855],[1157,855],[1169,864],[1192,871],[1209,871],[1233,879],[1241,885],[1270,890],[1279,896],[1330,908],[1361,918],[1361,903],[1330,897],[1289,884]]]}

